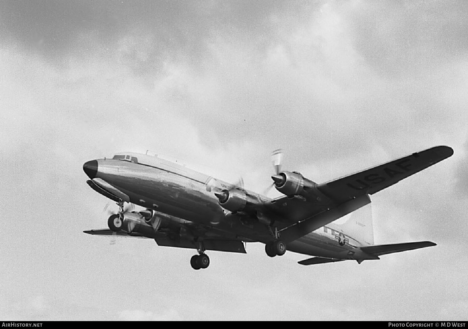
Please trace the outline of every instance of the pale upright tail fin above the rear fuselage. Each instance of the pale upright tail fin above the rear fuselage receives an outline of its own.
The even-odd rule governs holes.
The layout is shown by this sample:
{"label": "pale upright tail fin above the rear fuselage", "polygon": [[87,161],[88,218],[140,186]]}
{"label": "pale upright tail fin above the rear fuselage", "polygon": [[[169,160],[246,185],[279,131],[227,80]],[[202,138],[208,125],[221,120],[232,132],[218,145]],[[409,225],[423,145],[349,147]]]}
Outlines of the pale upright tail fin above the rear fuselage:
{"label": "pale upright tail fin above the rear fuselage", "polygon": [[365,205],[351,213],[343,224],[336,224],[345,234],[363,244],[374,244],[374,228],[372,223],[372,206]]}

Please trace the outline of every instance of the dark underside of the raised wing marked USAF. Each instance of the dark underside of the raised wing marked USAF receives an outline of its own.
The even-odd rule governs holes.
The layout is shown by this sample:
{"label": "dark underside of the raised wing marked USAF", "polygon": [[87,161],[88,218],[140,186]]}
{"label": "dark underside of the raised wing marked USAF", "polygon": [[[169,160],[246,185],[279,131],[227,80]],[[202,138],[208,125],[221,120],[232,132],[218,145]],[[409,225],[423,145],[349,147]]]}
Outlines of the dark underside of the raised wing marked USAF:
{"label": "dark underside of the raised wing marked USAF", "polygon": [[[368,194],[383,190],[402,179],[442,161],[453,154],[448,146],[427,150],[347,175],[317,186],[327,200],[279,197],[264,204],[265,214],[285,227],[281,233],[292,241],[370,203]],[[292,234],[292,235],[291,235]]]}

